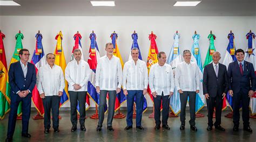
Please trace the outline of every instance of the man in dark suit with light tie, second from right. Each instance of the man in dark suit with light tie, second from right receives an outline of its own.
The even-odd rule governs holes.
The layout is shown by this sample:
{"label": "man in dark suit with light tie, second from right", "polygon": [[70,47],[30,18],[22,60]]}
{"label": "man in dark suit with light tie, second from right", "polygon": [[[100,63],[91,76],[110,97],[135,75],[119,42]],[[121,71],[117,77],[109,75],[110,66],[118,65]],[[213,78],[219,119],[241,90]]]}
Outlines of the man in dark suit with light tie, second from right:
{"label": "man in dark suit with light tie, second from right", "polygon": [[213,126],[213,110],[215,107],[215,129],[225,131],[221,124],[221,111],[223,105],[223,98],[228,91],[228,75],[227,67],[221,63],[220,53],[214,52],[212,54],[213,62],[209,63],[204,68],[203,75],[203,92],[206,97],[206,103],[208,108],[208,127],[207,131],[212,130]]}

